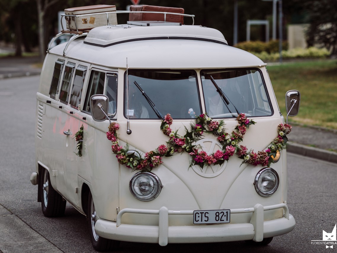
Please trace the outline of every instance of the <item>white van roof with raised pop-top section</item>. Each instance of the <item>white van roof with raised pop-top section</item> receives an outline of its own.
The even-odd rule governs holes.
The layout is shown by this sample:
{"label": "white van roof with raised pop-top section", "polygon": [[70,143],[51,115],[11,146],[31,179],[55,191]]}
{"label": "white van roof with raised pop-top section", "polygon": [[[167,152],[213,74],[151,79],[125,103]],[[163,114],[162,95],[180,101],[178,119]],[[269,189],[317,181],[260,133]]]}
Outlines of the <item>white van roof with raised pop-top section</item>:
{"label": "white van roof with raised pop-top section", "polygon": [[[76,36],[76,35],[75,35]],[[66,44],[49,53],[63,55]],[[227,45],[213,28],[191,25],[107,25],[90,30],[86,38],[73,40],[66,57],[108,67],[223,68],[266,65],[246,51]]]}

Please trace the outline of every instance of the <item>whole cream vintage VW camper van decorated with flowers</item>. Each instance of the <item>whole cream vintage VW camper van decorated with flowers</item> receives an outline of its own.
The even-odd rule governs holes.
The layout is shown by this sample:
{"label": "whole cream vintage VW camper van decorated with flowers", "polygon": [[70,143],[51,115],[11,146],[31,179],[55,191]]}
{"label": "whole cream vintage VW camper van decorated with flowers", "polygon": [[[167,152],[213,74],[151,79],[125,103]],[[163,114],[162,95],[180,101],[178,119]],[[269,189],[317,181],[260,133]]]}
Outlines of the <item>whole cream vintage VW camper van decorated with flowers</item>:
{"label": "whole cream vintage VW camper van decorated with flowers", "polygon": [[[294,229],[291,126],[266,63],[203,26],[140,20],[74,33],[48,49],[36,94],[31,182],[45,216],[68,201],[100,251],[266,245]],[[286,104],[295,116],[300,93]]]}

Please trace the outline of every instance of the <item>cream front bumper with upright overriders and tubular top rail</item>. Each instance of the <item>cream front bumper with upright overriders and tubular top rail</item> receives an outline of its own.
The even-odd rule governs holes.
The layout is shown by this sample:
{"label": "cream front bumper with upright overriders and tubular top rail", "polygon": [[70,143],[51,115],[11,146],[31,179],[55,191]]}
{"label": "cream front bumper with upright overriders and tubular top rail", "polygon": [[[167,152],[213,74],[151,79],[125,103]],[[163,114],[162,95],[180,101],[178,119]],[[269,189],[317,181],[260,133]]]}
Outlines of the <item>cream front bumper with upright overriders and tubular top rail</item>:
{"label": "cream front bumper with upright overriders and tubular top rail", "polygon": [[[264,221],[264,211],[283,208],[283,217]],[[122,215],[153,214],[159,215],[158,226],[121,224]],[[117,221],[97,220],[95,232],[104,238],[139,243],[159,243],[166,246],[168,243],[212,243],[253,240],[261,242],[263,238],[273,237],[292,231],[295,219],[289,214],[285,203],[263,206],[256,204],[250,208],[231,209],[231,214],[252,213],[249,223],[216,224],[214,226],[169,226],[169,215],[193,215],[193,210],[168,210],[165,206],[159,210],[122,209],[117,215]]]}

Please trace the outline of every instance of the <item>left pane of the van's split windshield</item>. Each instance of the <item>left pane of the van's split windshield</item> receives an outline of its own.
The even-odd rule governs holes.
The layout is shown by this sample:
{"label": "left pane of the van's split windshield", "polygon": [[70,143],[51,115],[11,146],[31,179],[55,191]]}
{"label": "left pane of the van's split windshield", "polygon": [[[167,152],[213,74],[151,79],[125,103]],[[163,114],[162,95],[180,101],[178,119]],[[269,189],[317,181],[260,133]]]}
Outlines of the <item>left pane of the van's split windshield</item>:
{"label": "left pane of the van's split windshield", "polygon": [[[194,118],[201,114],[195,71],[128,71],[129,111],[125,85],[124,115],[129,118],[160,118],[150,106],[145,92],[161,115],[170,113],[173,118]],[[192,109],[192,110],[190,110]]]}

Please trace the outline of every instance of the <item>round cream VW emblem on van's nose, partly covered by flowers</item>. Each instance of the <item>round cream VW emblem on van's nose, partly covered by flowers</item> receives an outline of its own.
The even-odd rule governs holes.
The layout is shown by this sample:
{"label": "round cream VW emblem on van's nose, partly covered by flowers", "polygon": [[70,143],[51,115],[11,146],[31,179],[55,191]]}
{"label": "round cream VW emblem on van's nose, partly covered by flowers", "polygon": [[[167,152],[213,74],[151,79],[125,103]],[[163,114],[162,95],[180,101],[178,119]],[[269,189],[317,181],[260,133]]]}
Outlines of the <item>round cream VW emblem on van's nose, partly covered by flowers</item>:
{"label": "round cream VW emblem on van's nose, partly covered by flowers", "polygon": [[[195,143],[197,146],[200,146],[203,151],[205,151],[208,154],[212,154],[216,152],[216,150],[222,148],[222,145],[214,140],[214,139],[201,139]],[[202,176],[202,177],[216,177],[220,175],[227,166],[227,161],[225,161],[222,165],[209,165],[204,166],[204,168],[201,168],[198,165],[192,165],[193,171]]]}

